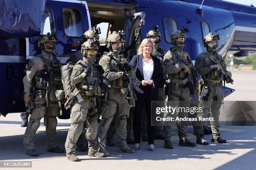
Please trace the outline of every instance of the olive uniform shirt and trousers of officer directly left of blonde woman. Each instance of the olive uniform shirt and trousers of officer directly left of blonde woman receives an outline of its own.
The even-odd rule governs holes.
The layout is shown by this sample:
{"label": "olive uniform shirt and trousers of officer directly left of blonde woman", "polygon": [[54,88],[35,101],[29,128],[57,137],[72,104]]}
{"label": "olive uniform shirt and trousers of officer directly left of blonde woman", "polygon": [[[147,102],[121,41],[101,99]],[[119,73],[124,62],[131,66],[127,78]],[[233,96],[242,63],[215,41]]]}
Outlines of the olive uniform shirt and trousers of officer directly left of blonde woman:
{"label": "olive uniform shirt and trousers of officer directly left of blonde woman", "polygon": [[108,79],[111,88],[108,92],[107,102],[102,103],[102,120],[98,131],[98,139],[101,145],[106,146],[107,131],[116,114],[115,139],[117,141],[117,148],[120,149],[128,147],[126,143],[126,124],[130,107],[128,100],[125,98],[127,97],[126,94],[121,92],[123,87],[121,87],[120,82],[122,82],[123,74],[119,72],[116,60],[120,61],[120,56],[113,53],[113,57],[103,55],[99,62],[99,65],[105,70],[104,76]]}

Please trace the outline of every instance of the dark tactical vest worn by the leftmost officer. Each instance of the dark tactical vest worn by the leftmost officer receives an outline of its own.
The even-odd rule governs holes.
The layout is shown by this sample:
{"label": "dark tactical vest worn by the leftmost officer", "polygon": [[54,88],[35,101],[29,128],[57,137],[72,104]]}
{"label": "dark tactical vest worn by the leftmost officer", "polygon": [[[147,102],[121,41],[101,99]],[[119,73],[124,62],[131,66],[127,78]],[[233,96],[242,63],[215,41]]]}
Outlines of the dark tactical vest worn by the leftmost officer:
{"label": "dark tactical vest worn by the leftmost officer", "polygon": [[43,55],[36,55],[44,61],[44,70],[36,73],[34,77],[34,83],[36,88],[46,89],[49,86],[61,85],[61,63],[54,56],[53,60],[46,60]]}

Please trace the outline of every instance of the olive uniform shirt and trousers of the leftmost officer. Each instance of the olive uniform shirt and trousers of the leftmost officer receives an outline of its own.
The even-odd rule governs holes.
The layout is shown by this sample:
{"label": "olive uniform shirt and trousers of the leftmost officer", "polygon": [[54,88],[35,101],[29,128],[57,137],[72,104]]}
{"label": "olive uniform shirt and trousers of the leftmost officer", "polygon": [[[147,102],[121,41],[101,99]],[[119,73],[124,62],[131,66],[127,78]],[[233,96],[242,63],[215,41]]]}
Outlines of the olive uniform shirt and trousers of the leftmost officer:
{"label": "olive uniform shirt and trousers of the leftmost officer", "polygon": [[42,51],[41,55],[35,56],[29,61],[26,75],[23,78],[25,95],[31,95],[32,85],[34,85],[34,92],[36,92],[36,94],[33,94],[33,99],[31,99],[34,101],[34,109],[31,110],[31,116],[23,140],[23,145],[27,151],[35,149],[36,131],[40,126],[41,118],[44,116],[46,116],[47,149],[57,147],[56,117],[58,116],[58,105],[49,104],[48,107],[46,107],[46,93],[48,94],[47,98],[52,98],[55,96],[55,90],[57,89],[56,86],[47,87],[47,81],[40,77],[40,72],[44,69],[48,69],[51,65],[51,61],[55,61],[57,67],[61,67],[61,63],[56,60],[56,57]]}

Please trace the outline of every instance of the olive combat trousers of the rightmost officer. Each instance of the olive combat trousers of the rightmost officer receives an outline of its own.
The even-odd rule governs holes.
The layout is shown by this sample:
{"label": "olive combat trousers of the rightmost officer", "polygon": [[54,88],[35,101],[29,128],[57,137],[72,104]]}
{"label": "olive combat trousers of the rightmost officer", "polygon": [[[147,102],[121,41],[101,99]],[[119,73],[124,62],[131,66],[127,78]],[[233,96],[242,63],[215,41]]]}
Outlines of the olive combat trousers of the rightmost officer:
{"label": "olive combat trousers of the rightmost officer", "polygon": [[[205,85],[202,87],[204,88]],[[221,94],[221,87],[220,86],[212,86],[208,85],[208,93],[207,99],[200,99],[198,107],[203,107],[202,112],[197,113],[197,117],[208,117],[208,112],[211,110],[210,117],[213,118],[213,121],[210,121],[211,128],[212,128],[212,137],[217,138],[220,135],[220,124],[219,124],[219,116],[220,116],[220,107],[221,102],[223,100],[223,96]],[[203,122],[200,121],[199,130],[195,132],[195,135],[204,136],[203,133]]]}

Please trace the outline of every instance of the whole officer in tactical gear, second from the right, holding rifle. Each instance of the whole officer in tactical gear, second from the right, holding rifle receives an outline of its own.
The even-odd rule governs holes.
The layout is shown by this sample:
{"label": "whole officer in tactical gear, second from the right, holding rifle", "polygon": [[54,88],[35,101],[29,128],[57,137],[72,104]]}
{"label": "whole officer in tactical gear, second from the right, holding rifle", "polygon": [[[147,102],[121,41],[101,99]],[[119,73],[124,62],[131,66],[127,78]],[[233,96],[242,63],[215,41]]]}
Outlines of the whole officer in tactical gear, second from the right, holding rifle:
{"label": "whole officer in tactical gear, second from the right, holding rifle", "polygon": [[[186,35],[184,32],[188,32],[188,29],[183,31],[177,30],[171,34],[171,43],[174,47],[171,47],[169,51],[164,55],[164,67],[168,74],[168,84],[166,85],[165,92],[168,95],[168,103],[172,107],[189,107],[190,106],[190,95],[194,95],[191,87],[195,87],[197,80],[196,75],[192,75],[193,81],[185,81],[192,72],[194,72],[194,66],[188,53],[183,51],[185,46]],[[195,81],[195,82],[194,82]],[[179,101],[182,101],[180,103]],[[167,114],[168,116],[168,114]],[[178,117],[187,117],[187,113],[179,112]],[[188,117],[191,114],[188,113]],[[195,143],[190,142],[187,139],[187,124],[185,121],[176,121],[178,135],[179,135],[179,146],[194,147]],[[192,122],[194,129],[198,129],[195,122]],[[171,134],[169,134],[170,136]],[[200,144],[207,145],[207,141],[203,138],[197,138],[200,140]]]}

